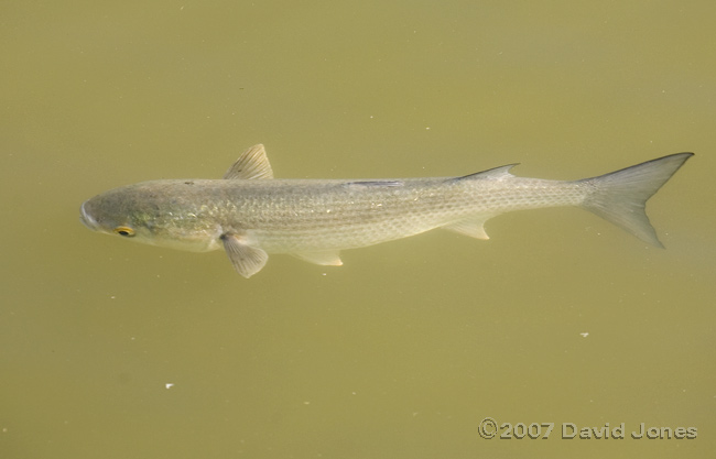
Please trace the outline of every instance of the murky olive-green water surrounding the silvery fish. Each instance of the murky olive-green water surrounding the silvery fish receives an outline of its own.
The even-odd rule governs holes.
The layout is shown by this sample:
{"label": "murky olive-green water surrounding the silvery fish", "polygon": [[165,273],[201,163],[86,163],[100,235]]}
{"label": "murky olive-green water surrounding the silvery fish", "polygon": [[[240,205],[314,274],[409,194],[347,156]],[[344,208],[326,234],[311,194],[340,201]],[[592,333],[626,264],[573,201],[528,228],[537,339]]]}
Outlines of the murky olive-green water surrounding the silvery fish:
{"label": "murky olive-green water surrounding the silvery fish", "polygon": [[[3,458],[710,457],[710,2],[0,4]],[[80,203],[219,177],[581,178],[681,151],[666,250],[577,209],[272,256],[93,233]],[[554,424],[485,439],[480,422]],[[569,424],[567,424],[569,423]],[[566,439],[562,426],[623,439]],[[695,439],[637,439],[695,427]],[[534,426],[542,436],[547,427]],[[508,433],[500,429],[499,434]]]}

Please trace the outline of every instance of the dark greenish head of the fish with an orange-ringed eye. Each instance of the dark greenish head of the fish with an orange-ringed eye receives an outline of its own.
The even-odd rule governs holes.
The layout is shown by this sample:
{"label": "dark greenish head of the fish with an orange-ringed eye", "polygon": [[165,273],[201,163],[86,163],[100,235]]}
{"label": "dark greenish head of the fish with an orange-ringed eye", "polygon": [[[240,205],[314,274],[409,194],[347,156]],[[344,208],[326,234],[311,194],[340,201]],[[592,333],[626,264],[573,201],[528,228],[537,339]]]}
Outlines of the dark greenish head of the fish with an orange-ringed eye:
{"label": "dark greenish head of the fish with an orange-ringed eye", "polygon": [[194,204],[164,181],[110,189],[80,207],[89,229],[152,245],[207,251],[220,247],[221,229],[200,218]]}

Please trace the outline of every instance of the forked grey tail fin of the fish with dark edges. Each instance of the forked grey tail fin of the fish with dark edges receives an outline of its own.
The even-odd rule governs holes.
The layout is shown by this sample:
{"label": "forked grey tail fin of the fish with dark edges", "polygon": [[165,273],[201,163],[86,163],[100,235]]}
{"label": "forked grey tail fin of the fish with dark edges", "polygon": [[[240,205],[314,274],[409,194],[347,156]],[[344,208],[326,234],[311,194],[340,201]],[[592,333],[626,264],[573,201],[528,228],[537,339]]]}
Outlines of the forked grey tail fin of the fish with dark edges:
{"label": "forked grey tail fin of the fish with dark edges", "polygon": [[623,228],[652,245],[663,248],[644,210],[647,200],[665,184],[693,153],[676,153],[621,171],[586,178],[594,187],[582,207]]}

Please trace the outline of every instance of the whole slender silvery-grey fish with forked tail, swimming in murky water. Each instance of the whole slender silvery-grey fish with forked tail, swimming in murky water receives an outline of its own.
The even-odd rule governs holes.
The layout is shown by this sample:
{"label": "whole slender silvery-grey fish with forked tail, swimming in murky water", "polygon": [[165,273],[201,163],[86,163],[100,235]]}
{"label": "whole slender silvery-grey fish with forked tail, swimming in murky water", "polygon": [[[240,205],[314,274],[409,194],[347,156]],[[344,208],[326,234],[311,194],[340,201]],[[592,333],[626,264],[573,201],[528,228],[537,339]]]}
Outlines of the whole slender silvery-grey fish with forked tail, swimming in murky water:
{"label": "whole slender silvery-grey fish with forked tail, swimming in murky water", "polygon": [[651,245],[663,248],[647,200],[693,153],[675,153],[577,181],[516,176],[517,164],[458,177],[390,179],[274,178],[262,144],[245,151],[220,179],[159,179],[86,200],[89,229],[153,245],[224,249],[243,277],[269,254],[339,266],[340,251],[442,228],[489,239],[498,215],[581,207]]}

